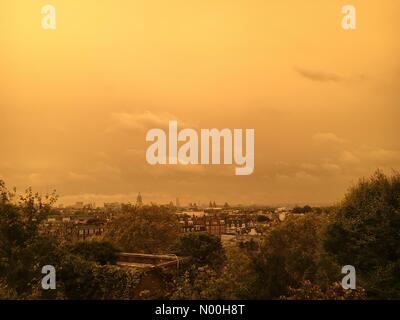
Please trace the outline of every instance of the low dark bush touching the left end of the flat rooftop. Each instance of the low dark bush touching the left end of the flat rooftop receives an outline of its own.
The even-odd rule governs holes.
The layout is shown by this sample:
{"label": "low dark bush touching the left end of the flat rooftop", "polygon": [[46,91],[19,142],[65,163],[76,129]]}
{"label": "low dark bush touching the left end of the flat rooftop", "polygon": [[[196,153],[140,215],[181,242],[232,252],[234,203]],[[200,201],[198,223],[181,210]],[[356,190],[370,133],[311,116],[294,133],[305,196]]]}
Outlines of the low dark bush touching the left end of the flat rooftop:
{"label": "low dark bush touching the left end of the flat rooftop", "polygon": [[101,265],[116,264],[118,250],[107,241],[81,241],[67,245],[72,254]]}

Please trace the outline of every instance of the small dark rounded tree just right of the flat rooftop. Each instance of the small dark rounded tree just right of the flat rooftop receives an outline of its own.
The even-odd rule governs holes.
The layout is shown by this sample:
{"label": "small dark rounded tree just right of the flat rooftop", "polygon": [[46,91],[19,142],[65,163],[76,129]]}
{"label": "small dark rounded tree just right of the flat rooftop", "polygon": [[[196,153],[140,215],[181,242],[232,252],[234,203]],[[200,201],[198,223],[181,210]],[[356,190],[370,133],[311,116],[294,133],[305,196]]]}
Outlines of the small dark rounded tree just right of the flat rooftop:
{"label": "small dark rounded tree just right of the flat rooftop", "polygon": [[219,267],[225,260],[224,248],[217,236],[205,232],[182,235],[176,244],[176,253],[191,258],[195,266]]}

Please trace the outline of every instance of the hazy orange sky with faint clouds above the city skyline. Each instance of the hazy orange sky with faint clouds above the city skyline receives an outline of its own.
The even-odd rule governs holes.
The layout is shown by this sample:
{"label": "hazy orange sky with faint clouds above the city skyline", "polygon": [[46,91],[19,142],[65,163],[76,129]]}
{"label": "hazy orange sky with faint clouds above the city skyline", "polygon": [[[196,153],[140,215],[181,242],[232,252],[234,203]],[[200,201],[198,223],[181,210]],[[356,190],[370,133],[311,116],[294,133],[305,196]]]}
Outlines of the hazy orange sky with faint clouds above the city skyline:
{"label": "hazy orange sky with faint clouds above the city skyline", "polygon": [[[400,2],[349,2],[355,31],[338,0],[1,1],[0,178],[63,203],[329,203],[400,169]],[[254,128],[253,175],[148,165],[168,120]]]}

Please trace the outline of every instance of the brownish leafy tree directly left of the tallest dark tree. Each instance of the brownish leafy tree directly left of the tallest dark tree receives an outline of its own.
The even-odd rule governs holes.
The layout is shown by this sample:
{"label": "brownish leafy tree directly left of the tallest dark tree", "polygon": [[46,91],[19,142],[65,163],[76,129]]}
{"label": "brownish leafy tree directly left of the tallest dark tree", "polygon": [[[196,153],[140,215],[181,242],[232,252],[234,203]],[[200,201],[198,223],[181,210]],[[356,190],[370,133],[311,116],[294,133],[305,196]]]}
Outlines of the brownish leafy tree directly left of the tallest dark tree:
{"label": "brownish leafy tree directly left of the tallest dark tree", "polygon": [[279,298],[287,294],[289,286],[296,287],[304,280],[329,282],[335,268],[320,252],[322,223],[317,215],[292,217],[271,231],[261,253],[253,258],[248,298]]}

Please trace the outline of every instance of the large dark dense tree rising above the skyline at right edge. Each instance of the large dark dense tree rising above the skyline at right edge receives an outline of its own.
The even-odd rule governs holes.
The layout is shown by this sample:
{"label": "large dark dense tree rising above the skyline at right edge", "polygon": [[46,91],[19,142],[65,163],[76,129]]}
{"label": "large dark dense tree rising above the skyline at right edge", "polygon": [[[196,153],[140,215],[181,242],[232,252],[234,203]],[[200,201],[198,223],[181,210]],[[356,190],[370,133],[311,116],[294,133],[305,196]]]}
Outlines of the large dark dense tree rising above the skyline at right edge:
{"label": "large dark dense tree rising above the skyline at right edge", "polygon": [[371,298],[400,298],[400,175],[377,171],[346,194],[333,214],[324,247],[353,265]]}

